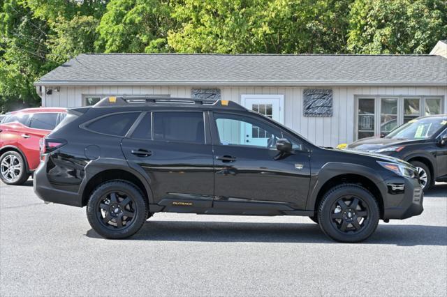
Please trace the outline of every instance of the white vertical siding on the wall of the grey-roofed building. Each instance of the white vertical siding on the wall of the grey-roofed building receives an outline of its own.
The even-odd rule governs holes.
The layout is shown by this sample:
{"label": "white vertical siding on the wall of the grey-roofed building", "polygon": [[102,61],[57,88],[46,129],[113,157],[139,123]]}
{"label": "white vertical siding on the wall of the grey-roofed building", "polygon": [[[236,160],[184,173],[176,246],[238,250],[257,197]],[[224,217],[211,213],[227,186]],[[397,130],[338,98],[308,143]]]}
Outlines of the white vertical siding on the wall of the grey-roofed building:
{"label": "white vertical siding on the wall of the grey-roofed building", "polygon": [[[199,88],[194,86],[193,88]],[[204,88],[212,88],[205,86]],[[337,146],[353,142],[355,138],[356,96],[440,96],[444,98],[444,112],[447,113],[447,87],[315,87],[332,89],[333,116],[302,116],[302,91],[308,87],[261,87],[261,86],[216,86],[221,89],[224,100],[240,102],[242,94],[282,94],[284,95],[284,122],[315,144]],[[52,87],[47,86],[47,89]],[[60,91],[44,96],[42,104],[47,107],[75,107],[84,104],[88,95],[170,95],[171,97],[191,96],[191,86],[61,86]]]}

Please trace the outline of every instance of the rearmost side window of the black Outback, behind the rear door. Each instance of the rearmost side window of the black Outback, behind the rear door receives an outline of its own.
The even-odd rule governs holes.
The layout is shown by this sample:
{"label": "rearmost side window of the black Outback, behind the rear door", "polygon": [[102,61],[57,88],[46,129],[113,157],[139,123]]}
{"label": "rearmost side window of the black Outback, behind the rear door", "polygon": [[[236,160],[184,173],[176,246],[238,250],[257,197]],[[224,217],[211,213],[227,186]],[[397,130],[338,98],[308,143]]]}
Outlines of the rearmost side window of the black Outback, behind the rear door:
{"label": "rearmost side window of the black Outback, behind the rear door", "polygon": [[126,112],[103,116],[102,118],[89,123],[87,129],[102,134],[124,136],[131,128],[133,122],[135,122],[135,119],[137,119],[138,114],[138,112]]}

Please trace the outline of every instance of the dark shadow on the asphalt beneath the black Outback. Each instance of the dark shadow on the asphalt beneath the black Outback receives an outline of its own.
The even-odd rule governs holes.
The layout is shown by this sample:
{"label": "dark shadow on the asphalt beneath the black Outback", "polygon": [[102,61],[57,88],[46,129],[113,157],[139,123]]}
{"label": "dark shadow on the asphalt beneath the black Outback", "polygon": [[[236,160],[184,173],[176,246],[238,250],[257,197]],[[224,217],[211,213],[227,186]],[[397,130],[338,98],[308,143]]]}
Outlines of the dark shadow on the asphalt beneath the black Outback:
{"label": "dark shadow on the asphalt beneath the black Outback", "polygon": [[[400,246],[447,245],[447,227],[379,224],[367,244]],[[93,229],[86,236],[101,238]],[[251,243],[336,243],[318,224],[258,222],[191,222],[147,220],[134,241],[251,242]]]}

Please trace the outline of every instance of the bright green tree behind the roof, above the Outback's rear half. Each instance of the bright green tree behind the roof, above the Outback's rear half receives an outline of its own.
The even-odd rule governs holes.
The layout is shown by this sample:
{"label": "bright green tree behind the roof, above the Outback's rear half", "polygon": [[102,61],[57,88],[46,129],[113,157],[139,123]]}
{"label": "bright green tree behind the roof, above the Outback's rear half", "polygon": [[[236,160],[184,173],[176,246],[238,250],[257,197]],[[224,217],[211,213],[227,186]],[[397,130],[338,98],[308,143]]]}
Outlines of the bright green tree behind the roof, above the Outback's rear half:
{"label": "bright green tree behind the roof, above the Outback's rear half", "polygon": [[112,0],[98,26],[104,52],[169,52],[168,30],[176,26],[168,0]]}

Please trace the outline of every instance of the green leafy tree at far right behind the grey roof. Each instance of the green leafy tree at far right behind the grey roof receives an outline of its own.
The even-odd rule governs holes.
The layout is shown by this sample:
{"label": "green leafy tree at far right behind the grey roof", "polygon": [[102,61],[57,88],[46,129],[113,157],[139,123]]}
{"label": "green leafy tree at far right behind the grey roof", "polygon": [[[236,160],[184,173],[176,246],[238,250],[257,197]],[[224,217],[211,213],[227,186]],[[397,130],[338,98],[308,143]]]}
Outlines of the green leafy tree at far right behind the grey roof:
{"label": "green leafy tree at far right behind the grey roof", "polygon": [[356,0],[348,48],[358,54],[426,54],[447,38],[447,1]]}

